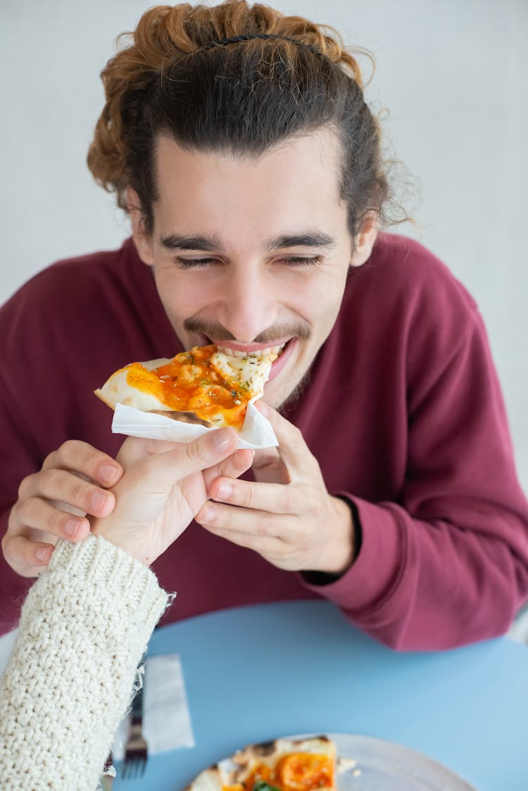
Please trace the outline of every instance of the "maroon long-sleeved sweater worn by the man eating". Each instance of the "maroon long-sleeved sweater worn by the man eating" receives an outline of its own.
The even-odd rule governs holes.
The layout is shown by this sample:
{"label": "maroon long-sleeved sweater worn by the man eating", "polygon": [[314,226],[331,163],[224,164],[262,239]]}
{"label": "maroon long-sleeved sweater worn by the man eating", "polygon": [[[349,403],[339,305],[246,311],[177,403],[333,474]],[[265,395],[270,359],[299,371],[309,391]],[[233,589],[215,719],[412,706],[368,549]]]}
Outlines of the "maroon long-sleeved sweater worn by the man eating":
{"label": "maroon long-sleeved sweater worn by the man eating", "polygon": [[[112,413],[94,388],[129,361],[180,350],[131,240],[116,252],[55,263],[6,303],[2,532],[21,479],[63,441],[116,454],[123,437],[112,435]],[[154,563],[161,585],[178,592],[165,623],[325,596],[400,649],[507,630],[528,596],[528,505],[481,316],[438,259],[410,240],[378,239],[348,279],[310,386],[286,416],[302,430],[329,492],[355,502],[359,557],[340,579],[315,585],[193,523]],[[6,630],[28,581],[1,564]]]}

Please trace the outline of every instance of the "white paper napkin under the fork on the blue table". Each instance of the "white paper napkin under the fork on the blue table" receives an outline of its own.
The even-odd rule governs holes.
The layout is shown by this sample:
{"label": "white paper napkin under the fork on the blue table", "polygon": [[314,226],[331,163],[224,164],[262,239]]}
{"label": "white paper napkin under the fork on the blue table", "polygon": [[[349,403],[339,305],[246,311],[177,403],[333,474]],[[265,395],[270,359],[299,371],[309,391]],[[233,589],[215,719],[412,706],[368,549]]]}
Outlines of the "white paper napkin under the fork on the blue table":
{"label": "white paper napkin under the fork on the blue table", "polygon": [[[149,755],[177,747],[194,747],[180,657],[176,653],[147,657],[143,683],[143,736]],[[115,761],[123,759],[130,717],[128,713],[116,730],[112,745]]]}

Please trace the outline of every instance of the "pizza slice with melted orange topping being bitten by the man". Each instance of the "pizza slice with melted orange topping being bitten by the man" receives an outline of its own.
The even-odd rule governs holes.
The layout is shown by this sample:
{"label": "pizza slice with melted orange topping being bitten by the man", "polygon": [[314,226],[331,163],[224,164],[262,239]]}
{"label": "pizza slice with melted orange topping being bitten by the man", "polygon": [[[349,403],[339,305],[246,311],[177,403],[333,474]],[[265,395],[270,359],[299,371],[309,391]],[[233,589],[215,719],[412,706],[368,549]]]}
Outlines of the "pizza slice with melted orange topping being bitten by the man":
{"label": "pizza slice with melted orange topping being bitten by the man", "polygon": [[277,355],[229,357],[213,344],[194,346],[172,359],[132,362],[95,394],[112,409],[117,403],[208,428],[241,430],[249,401],[264,392]]}

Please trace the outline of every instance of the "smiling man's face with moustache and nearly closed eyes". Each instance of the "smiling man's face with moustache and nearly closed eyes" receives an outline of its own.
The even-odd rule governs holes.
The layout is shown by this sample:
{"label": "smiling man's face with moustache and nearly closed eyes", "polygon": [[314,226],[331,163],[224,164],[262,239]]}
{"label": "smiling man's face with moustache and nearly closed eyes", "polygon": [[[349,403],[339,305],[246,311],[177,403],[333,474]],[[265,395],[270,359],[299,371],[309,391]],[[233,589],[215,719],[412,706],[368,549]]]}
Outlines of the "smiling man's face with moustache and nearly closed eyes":
{"label": "smiling man's face with moustache and nearly closed eyes", "polygon": [[151,235],[132,213],[139,254],[185,348],[276,347],[264,391],[272,407],[306,375],[336,320],[348,267],[374,242],[375,232],[352,254],[337,150],[329,131],[258,158],[189,151],[162,137]]}

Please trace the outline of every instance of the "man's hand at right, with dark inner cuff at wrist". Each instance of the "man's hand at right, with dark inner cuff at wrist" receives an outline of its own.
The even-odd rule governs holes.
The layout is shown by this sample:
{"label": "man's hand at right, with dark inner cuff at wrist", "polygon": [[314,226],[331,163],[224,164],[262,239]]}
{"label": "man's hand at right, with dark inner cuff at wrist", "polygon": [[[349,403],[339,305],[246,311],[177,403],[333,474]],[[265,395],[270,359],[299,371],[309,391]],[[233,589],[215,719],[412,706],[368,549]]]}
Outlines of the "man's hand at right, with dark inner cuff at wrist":
{"label": "man's hand at right, with dark inner cuff at wrist", "polygon": [[196,521],[258,552],[279,569],[343,573],[354,560],[351,510],[326,490],[301,432],[261,401],[279,449],[257,451],[256,483],[218,478]]}

